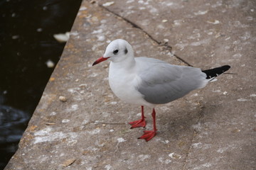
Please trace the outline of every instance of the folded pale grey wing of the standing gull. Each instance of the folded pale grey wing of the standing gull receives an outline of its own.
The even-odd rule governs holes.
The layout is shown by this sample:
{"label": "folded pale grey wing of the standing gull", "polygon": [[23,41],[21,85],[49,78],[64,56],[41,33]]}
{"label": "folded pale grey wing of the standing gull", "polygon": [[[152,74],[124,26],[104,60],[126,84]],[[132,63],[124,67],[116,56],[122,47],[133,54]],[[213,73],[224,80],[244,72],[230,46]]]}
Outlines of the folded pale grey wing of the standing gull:
{"label": "folded pale grey wing of the standing gull", "polygon": [[147,102],[154,104],[169,103],[208,83],[201,69],[168,63],[155,64],[139,77],[142,83],[137,90]]}

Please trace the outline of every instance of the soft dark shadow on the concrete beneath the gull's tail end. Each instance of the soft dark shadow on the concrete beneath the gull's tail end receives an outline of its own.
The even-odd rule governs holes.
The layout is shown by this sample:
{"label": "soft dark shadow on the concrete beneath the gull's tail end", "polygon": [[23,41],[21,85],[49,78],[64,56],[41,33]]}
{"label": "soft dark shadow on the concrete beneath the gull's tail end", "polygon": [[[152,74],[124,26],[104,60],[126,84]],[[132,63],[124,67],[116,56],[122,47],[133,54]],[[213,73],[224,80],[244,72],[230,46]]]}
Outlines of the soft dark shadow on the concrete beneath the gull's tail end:
{"label": "soft dark shadow on the concrete beneath the gull's tail end", "polygon": [[214,104],[215,100],[216,98],[213,97],[208,98],[207,102],[198,101],[196,106],[189,103],[187,98],[174,101],[168,111],[158,111],[159,135],[161,134],[166,140],[181,140],[193,136],[198,130],[198,124],[203,123],[204,118],[213,120],[218,116],[215,114],[219,113],[221,108]]}

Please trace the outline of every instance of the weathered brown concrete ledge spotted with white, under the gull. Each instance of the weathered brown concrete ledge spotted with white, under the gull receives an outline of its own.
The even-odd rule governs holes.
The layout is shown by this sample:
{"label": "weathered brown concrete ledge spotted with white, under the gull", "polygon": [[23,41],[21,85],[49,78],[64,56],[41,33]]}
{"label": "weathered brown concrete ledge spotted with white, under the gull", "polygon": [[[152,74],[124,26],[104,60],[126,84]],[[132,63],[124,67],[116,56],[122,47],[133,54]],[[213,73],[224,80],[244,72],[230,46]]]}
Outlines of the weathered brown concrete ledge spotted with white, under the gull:
{"label": "weathered brown concrete ledge spotted with white, under the gull", "polygon": [[[6,170],[256,169],[255,1],[107,2],[83,1]],[[117,38],[137,56],[203,69],[230,64],[238,74],[159,106],[158,135],[137,140],[143,128],[126,123],[139,118],[139,106],[112,94],[107,62],[91,67]]]}

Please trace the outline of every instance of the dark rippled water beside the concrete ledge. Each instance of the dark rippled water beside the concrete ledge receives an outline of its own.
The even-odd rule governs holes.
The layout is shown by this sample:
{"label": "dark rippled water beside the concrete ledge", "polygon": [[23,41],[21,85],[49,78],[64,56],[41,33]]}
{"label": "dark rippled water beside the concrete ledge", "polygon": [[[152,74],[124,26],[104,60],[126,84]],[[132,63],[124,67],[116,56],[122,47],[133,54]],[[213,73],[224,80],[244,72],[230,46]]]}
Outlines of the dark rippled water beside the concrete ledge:
{"label": "dark rippled water beside the concrete ledge", "polygon": [[53,34],[73,26],[82,0],[0,0],[0,169],[41,98],[65,43]]}

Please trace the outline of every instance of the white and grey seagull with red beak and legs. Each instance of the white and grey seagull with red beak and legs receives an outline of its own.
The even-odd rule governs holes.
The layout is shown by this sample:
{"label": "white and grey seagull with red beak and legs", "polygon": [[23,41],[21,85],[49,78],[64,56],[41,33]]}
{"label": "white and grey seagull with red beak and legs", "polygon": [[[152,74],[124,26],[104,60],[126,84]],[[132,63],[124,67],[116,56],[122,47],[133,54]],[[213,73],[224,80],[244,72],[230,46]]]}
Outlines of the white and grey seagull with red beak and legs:
{"label": "white and grey seagull with red beak and legs", "polygon": [[92,66],[110,60],[109,84],[114,94],[126,103],[141,106],[142,118],[130,122],[131,128],[146,127],[144,106],[152,109],[153,130],[145,130],[138,139],[146,142],[156,135],[156,111],[159,104],[181,98],[223,74],[229,65],[201,70],[179,66],[149,57],[134,57],[134,50],[126,40],[117,39],[107,45],[105,54]]}

